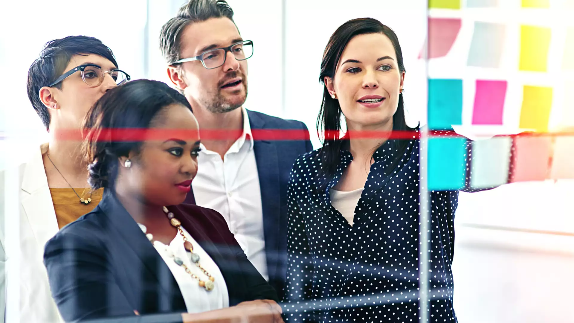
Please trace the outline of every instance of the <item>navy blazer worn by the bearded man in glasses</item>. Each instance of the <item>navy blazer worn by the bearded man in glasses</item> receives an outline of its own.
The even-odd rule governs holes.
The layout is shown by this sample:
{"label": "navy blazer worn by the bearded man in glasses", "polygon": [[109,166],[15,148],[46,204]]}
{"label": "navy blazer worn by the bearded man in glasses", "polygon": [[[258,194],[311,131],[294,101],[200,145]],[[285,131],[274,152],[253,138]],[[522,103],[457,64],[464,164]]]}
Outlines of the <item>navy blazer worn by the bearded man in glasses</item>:
{"label": "navy blazer worn by the bearded man in glasses", "polygon": [[[282,298],[287,271],[287,186],[293,163],[299,155],[313,150],[309,130],[301,121],[284,120],[267,114],[247,110],[249,125],[253,131],[255,163],[261,188],[263,209],[263,236],[269,284]],[[259,131],[258,131],[259,130]],[[289,130],[285,137],[296,134],[304,140],[269,140],[267,134],[280,137],[272,130]],[[201,166],[200,166],[201,167]],[[184,203],[195,204],[193,191],[187,194]]]}

